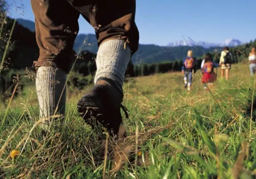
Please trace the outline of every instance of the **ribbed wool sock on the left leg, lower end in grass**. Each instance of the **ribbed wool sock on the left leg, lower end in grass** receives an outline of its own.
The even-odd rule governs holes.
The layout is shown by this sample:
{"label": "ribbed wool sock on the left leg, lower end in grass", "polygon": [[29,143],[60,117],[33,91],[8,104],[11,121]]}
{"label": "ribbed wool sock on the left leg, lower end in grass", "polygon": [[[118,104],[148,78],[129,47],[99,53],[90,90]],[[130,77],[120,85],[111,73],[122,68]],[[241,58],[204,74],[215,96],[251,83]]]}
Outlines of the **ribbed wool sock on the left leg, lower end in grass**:
{"label": "ribbed wool sock on the left leg, lower end in grass", "polygon": [[51,117],[55,109],[55,115],[65,115],[66,87],[62,93],[66,82],[66,72],[51,66],[40,66],[36,73],[36,92],[39,102],[40,117]]}

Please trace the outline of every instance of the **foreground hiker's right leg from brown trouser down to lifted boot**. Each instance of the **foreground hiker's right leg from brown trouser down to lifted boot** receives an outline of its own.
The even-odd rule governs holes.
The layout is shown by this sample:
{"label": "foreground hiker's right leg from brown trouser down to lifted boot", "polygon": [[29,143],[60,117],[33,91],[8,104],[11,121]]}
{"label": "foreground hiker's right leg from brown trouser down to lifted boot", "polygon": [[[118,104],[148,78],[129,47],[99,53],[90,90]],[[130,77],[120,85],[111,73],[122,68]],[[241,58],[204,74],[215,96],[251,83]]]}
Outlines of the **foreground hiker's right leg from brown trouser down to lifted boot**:
{"label": "foreground hiker's right leg from brown trouser down to lifted boot", "polygon": [[[79,100],[77,107],[84,120],[90,122],[90,118],[96,117],[116,135],[122,122],[120,107],[124,73],[131,56],[138,49],[136,1],[85,2],[70,0],[72,6],[94,27],[99,50],[95,86]],[[99,119],[101,117],[103,121]]]}

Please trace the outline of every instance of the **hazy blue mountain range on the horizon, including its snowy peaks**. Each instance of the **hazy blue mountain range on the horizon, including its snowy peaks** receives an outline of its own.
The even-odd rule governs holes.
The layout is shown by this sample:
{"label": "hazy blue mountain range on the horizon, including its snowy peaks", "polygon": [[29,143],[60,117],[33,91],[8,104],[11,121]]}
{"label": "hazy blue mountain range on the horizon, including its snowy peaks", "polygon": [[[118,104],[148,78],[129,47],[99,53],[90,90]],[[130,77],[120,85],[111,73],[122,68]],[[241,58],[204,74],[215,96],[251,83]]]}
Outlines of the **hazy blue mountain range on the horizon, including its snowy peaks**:
{"label": "hazy blue mountain range on the horizon, including its snowy peaks", "polygon": [[[18,24],[34,32],[34,22],[26,19],[17,19]],[[211,43],[205,41],[195,42],[194,40],[180,40],[170,42],[166,46],[156,44],[139,44],[138,51],[133,55],[133,63],[158,63],[163,61],[174,61],[186,56],[188,50],[193,50],[194,56],[202,56],[205,53],[213,52],[217,49],[219,52],[224,46],[235,47],[242,42],[237,39],[227,39],[223,43]],[[95,34],[78,34],[74,42],[74,50],[87,50],[97,53],[98,45]]]}

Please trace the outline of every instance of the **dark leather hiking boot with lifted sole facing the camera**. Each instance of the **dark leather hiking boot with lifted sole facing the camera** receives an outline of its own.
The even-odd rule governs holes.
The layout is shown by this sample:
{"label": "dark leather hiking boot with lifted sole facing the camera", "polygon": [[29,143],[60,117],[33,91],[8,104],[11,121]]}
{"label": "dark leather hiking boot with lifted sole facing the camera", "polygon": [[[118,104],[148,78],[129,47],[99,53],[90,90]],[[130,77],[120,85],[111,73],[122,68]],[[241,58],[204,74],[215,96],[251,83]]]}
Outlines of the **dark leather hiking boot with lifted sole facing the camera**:
{"label": "dark leather hiking boot with lifted sole facing the camera", "polygon": [[109,78],[99,78],[95,86],[77,103],[80,116],[93,128],[97,123],[106,128],[114,139],[126,136],[122,125],[122,108],[126,118],[127,109],[121,104],[123,93],[118,90],[115,82]]}

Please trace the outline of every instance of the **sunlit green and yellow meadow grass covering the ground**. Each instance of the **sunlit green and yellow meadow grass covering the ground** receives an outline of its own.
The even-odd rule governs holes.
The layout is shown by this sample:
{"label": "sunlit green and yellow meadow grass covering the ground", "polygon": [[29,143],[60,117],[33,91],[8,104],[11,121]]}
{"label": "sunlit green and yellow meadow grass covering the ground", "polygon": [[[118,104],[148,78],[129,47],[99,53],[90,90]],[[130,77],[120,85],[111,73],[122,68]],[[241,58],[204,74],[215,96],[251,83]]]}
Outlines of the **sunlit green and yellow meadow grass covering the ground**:
{"label": "sunlit green and yellow meadow grass covering the ground", "polygon": [[[0,104],[0,178],[255,178],[256,97],[248,64],[233,65],[230,80],[210,91],[199,73],[190,93],[181,73],[127,79],[129,137],[107,143],[78,117],[86,89],[68,94],[66,116],[45,131],[35,88],[25,86]],[[133,160],[118,165],[129,153]]]}

